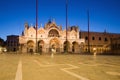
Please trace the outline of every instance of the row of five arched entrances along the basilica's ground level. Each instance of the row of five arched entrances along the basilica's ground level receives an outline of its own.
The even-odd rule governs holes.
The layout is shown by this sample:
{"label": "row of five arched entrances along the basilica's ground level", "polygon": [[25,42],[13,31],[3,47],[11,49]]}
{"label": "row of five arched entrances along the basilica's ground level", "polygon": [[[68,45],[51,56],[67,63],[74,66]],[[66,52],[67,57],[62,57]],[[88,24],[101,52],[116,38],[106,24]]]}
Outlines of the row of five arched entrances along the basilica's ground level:
{"label": "row of five arched entrances along the basilica's ground level", "polygon": [[[61,41],[59,38],[52,38],[49,42],[45,42],[44,40],[38,41],[38,53],[48,53],[51,52],[51,49],[54,48],[56,53],[66,52],[66,46],[68,52],[79,53],[80,52],[80,44],[76,41]],[[33,40],[27,41],[27,52],[35,52],[36,51],[36,43]]]}

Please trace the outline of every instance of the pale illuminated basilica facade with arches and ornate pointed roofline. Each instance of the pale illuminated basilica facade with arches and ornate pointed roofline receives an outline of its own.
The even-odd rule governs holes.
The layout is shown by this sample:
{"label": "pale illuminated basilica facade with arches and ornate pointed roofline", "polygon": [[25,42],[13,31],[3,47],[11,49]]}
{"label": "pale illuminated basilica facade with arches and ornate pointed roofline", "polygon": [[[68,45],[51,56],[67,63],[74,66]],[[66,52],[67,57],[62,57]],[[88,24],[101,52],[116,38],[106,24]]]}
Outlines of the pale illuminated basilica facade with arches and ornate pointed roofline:
{"label": "pale illuminated basilica facade with arches and ornate pointed roofline", "polygon": [[[23,53],[36,52],[50,53],[54,48],[56,53],[62,53],[66,50],[72,53],[80,53],[84,44],[84,39],[79,38],[79,29],[77,26],[69,27],[66,30],[58,26],[54,21],[48,21],[44,27],[37,29],[25,23],[25,29],[19,36],[19,51]],[[67,35],[67,39],[66,39]]]}

